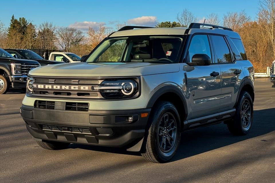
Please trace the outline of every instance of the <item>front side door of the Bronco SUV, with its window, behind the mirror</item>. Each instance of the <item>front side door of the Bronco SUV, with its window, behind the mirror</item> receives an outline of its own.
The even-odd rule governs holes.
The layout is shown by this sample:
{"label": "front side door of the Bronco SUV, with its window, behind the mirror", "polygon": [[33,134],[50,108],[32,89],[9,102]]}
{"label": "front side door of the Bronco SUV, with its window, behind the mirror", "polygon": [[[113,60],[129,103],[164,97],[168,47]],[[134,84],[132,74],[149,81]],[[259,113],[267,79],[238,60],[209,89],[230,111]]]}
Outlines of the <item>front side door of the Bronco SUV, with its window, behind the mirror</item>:
{"label": "front side door of the Bronco SUV, with its window, behind the mirror", "polygon": [[215,114],[220,108],[221,70],[219,65],[215,64],[209,38],[209,35],[193,35],[185,61],[192,62],[192,56],[195,54],[207,54],[213,63],[207,66],[184,66],[190,94],[190,118]]}

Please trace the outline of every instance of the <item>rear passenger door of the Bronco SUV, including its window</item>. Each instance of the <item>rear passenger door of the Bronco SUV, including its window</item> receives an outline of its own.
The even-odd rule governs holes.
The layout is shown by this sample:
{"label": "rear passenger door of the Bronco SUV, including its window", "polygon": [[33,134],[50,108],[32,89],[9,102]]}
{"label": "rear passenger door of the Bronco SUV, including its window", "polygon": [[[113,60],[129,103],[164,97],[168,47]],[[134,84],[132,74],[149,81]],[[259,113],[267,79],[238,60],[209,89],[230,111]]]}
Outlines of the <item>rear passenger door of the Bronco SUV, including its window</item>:
{"label": "rear passenger door of the Bronco SUV, including its window", "polygon": [[[211,35],[216,64],[221,68],[221,107],[220,111],[232,109],[239,91],[241,65],[236,59],[240,57],[237,51],[231,51],[225,36]],[[229,38],[229,41],[230,38]]]}

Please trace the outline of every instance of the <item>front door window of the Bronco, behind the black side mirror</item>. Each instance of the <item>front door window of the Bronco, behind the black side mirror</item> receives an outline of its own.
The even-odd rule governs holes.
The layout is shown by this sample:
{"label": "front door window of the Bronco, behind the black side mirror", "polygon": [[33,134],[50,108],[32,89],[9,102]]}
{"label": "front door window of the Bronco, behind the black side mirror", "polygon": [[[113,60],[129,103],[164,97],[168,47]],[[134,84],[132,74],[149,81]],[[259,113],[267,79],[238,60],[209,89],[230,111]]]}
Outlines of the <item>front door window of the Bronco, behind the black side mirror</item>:
{"label": "front door window of the Bronco, behind the black side mirror", "polygon": [[211,51],[207,35],[195,35],[192,37],[186,62],[192,62],[195,54],[206,54],[211,58]]}

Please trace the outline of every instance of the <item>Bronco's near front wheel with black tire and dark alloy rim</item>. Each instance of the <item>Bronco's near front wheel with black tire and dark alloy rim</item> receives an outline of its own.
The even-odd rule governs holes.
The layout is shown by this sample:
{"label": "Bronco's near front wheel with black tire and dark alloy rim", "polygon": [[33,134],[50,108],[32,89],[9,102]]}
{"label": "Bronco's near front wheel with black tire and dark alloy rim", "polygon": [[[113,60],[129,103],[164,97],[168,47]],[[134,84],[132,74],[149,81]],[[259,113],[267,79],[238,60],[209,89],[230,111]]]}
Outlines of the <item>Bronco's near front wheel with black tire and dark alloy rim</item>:
{"label": "Bronco's near front wheel with black tire and dark alloy rim", "polygon": [[180,142],[180,117],[175,106],[166,101],[158,102],[152,109],[145,136],[142,156],[154,163],[169,161],[178,150]]}

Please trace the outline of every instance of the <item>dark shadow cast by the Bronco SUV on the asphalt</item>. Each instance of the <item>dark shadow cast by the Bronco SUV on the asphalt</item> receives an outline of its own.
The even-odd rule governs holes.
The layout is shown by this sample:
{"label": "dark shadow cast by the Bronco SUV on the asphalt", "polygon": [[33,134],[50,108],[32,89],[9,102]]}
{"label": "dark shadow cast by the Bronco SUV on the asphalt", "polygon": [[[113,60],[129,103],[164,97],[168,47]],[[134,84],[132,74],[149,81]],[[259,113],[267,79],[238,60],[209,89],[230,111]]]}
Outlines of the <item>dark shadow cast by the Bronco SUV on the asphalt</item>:
{"label": "dark shadow cast by the Bronco SUV on the asphalt", "polygon": [[[272,116],[272,114],[275,114],[275,108],[254,111],[252,128],[245,136],[231,135],[227,126],[223,123],[185,131],[182,133],[178,151],[171,161],[195,156],[203,152],[208,152],[275,131],[274,116]],[[139,152],[128,152],[122,148],[88,146],[81,144],[71,144],[69,148],[81,148],[100,152],[140,156]]]}

